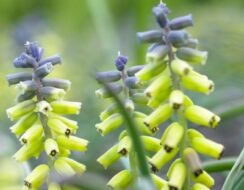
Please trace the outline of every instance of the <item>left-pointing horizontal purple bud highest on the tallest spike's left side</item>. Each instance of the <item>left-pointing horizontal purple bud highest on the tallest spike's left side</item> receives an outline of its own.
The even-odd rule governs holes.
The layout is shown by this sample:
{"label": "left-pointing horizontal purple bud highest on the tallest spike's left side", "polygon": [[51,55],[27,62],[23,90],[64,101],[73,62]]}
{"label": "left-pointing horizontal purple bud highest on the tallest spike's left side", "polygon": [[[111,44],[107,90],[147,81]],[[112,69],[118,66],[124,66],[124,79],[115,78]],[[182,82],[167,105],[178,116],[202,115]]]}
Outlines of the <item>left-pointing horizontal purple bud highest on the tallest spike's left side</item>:
{"label": "left-pointing horizontal purple bud highest on the tallest spike's left side", "polygon": [[146,32],[138,32],[137,39],[140,43],[154,43],[162,41],[163,32],[158,30],[149,30]]}

